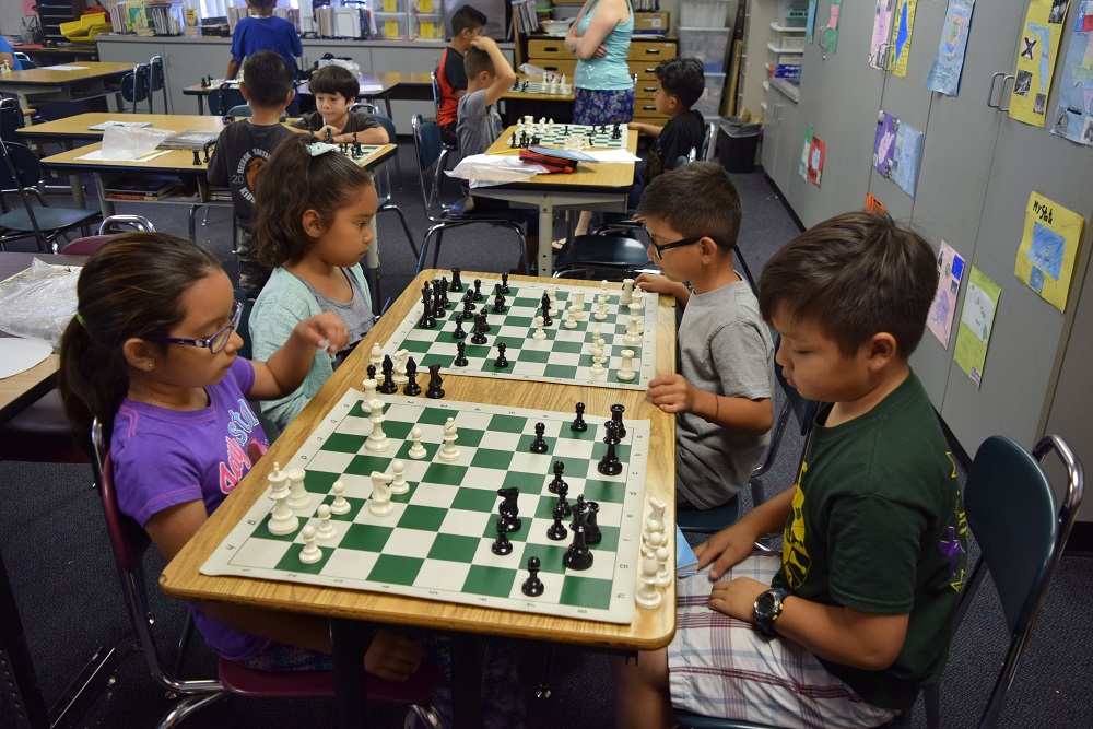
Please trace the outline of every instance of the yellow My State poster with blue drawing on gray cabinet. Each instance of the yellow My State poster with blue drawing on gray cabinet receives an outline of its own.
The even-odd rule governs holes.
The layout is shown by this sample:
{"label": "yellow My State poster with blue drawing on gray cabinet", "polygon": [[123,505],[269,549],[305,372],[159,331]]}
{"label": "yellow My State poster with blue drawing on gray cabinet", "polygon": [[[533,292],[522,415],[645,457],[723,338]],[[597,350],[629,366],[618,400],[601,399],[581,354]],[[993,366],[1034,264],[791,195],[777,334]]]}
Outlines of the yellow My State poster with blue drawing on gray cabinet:
{"label": "yellow My State poster with blue drawing on gray cabinet", "polygon": [[1038,192],[1029,196],[1024,235],[1013,273],[1060,311],[1074,270],[1085,220]]}

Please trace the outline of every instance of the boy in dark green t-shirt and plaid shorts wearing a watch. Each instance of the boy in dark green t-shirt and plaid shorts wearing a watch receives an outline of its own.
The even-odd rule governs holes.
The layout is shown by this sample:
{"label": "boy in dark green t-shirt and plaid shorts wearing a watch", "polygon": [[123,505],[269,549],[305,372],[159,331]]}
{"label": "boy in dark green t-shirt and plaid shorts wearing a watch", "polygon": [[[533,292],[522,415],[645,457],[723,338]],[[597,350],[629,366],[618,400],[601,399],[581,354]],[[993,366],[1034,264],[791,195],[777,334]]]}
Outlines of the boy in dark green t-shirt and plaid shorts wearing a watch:
{"label": "boy in dark green t-shirt and plaid shorts wearing a watch", "polygon": [[[937,415],[907,358],[936,256],[888,216],[846,213],[775,254],[760,309],[816,415],[797,483],[695,549],[675,638],[616,660],[620,727],[671,706],[777,726],[875,727],[941,675],[967,528]],[[784,530],[780,558],[751,554]],[[772,564],[773,563],[773,564]],[[718,581],[719,580],[719,581]]]}

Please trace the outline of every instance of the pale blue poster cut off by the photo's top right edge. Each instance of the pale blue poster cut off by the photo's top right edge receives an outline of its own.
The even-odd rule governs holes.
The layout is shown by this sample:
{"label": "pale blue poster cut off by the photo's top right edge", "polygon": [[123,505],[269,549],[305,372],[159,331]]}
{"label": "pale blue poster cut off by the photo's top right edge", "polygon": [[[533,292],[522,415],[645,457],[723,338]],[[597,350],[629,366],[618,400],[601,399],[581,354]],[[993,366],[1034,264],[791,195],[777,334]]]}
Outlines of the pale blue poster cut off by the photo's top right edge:
{"label": "pale blue poster cut off by the photo's top right edge", "polygon": [[1078,3],[1051,132],[1093,145],[1093,2]]}

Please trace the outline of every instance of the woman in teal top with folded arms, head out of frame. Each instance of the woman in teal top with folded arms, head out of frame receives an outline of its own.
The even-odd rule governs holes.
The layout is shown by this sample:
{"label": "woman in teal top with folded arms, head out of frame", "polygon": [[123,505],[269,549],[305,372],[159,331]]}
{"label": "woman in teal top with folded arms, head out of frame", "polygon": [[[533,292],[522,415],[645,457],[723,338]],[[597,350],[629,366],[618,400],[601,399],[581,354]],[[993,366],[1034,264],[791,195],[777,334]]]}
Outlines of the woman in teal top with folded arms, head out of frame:
{"label": "woman in teal top with folded arms, head out of frame", "polygon": [[634,13],[630,0],[586,0],[565,36],[577,56],[573,122],[626,124],[634,118],[634,82],[626,64]]}

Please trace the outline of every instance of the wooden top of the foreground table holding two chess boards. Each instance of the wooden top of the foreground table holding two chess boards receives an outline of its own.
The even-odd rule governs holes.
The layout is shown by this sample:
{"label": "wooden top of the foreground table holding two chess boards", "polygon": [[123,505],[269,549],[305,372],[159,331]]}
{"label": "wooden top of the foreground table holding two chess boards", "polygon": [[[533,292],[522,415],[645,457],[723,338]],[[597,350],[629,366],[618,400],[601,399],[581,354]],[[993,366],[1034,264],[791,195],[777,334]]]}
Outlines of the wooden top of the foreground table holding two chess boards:
{"label": "wooden top of the foreground table holding two chess boards", "polygon": [[[349,360],[334,372],[319,393],[273,444],[231,496],[183,548],[160,576],[160,587],[172,597],[261,605],[275,610],[346,618],[384,624],[419,625],[466,633],[572,643],[618,649],[649,650],[668,645],[675,632],[674,586],[667,589],[663,607],[637,609],[628,625],[615,625],[530,613],[509,612],[435,602],[387,593],[314,587],[245,577],[212,577],[199,569],[255,501],[265,493],[266,474],[274,461],[287,462],[349,388],[360,388],[366,377],[368,355],[375,342],[385,342],[418,301],[425,281],[448,271],[426,270],[418,275],[384,315]],[[463,272],[468,280],[475,275]],[[537,281],[510,277],[512,281]],[[588,282],[560,281],[586,285]],[[615,284],[618,285],[618,284]],[[657,322],[657,371],[672,372],[675,360],[675,305],[660,297]],[[427,375],[427,373],[425,373]],[[650,452],[646,494],[668,504],[674,524],[675,419],[648,402],[640,390],[579,387],[546,383],[505,381],[504,386],[482,377],[449,375],[444,379],[446,398],[487,404],[519,404],[522,408],[572,412],[578,401],[589,412],[604,413],[611,404],[626,405],[627,418],[650,421]]]}

